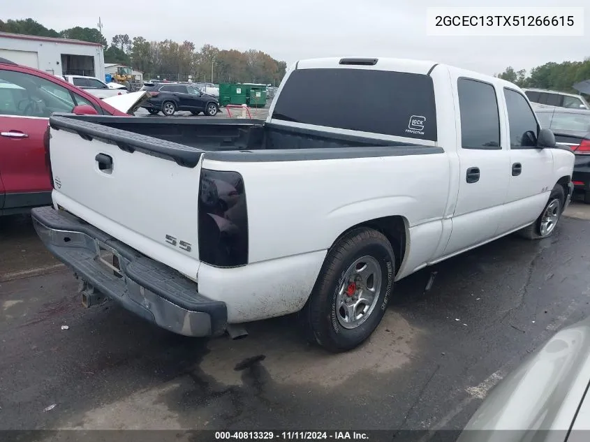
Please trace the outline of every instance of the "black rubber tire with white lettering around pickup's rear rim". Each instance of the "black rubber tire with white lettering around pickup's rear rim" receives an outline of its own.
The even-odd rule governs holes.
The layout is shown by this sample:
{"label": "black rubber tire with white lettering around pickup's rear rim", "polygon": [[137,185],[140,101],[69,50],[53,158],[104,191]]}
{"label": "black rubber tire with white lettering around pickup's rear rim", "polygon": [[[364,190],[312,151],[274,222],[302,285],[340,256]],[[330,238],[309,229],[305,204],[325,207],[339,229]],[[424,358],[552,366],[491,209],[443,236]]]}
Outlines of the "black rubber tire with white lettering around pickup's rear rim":
{"label": "black rubber tire with white lettering around pickup's rear rim", "polygon": [[[381,284],[371,302],[372,309],[355,328],[344,327],[341,309],[337,300],[347,279],[347,271],[356,260],[374,260],[375,267],[381,270]],[[348,351],[364,342],[381,322],[389,302],[393,287],[395,255],[385,235],[371,228],[357,228],[346,233],[327,253],[313,291],[301,311],[304,333],[315,342],[334,353]],[[373,279],[375,283],[375,279]],[[348,287],[355,284],[350,283]],[[368,285],[368,284],[367,284]],[[361,286],[358,286],[361,287]],[[362,290],[362,289],[361,289]],[[348,300],[348,298],[345,297]],[[354,299],[354,298],[352,298]],[[362,304],[360,304],[362,305]],[[344,309],[346,312],[346,309]]]}

